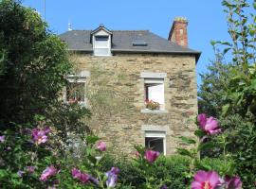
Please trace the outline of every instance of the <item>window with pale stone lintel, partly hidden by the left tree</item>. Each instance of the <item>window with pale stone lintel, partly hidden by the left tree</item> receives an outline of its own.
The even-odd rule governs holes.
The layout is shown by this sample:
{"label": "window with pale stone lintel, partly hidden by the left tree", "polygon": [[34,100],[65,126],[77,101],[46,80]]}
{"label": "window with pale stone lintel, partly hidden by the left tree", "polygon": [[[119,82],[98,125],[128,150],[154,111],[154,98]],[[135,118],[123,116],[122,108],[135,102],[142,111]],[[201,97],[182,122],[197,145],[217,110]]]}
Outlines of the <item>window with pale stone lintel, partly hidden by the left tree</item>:
{"label": "window with pale stone lintel, partly hidden by the left tree", "polygon": [[79,103],[83,106],[86,104],[85,84],[86,77],[89,77],[89,72],[83,71],[78,75],[68,75],[66,77],[67,84],[65,86],[64,102]]}

